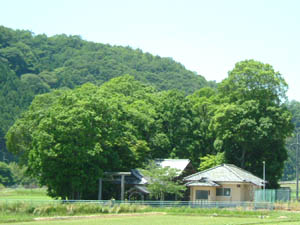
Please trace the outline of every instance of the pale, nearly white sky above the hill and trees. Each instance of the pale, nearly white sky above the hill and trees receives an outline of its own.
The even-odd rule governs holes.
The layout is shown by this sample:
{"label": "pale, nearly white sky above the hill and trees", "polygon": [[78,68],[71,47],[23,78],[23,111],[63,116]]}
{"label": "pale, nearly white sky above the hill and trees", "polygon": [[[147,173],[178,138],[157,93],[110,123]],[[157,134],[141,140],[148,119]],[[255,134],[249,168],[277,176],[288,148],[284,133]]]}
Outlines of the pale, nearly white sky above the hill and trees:
{"label": "pale, nearly white sky above the hill and trees", "polygon": [[0,25],[171,57],[207,80],[269,63],[300,101],[299,0],[3,0]]}

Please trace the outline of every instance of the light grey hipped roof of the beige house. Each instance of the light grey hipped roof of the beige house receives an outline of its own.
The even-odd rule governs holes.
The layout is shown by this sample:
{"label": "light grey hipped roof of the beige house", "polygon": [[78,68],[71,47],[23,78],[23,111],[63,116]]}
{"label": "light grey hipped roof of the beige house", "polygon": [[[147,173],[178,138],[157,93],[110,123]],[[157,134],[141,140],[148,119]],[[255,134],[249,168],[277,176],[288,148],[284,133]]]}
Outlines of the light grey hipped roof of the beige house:
{"label": "light grey hipped roof of the beige house", "polygon": [[263,186],[262,179],[232,164],[222,164],[187,176],[184,180],[199,181],[204,177],[214,182],[253,183],[258,186]]}

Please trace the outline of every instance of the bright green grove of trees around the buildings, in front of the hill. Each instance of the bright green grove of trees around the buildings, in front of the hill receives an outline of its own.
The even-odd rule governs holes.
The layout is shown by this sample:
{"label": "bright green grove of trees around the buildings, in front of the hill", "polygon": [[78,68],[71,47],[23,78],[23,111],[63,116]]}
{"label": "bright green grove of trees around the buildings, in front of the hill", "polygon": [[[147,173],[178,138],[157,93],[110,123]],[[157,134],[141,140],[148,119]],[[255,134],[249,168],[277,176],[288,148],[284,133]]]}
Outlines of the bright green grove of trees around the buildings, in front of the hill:
{"label": "bright green grove of trees around the buildings, in front of the hill", "polygon": [[262,162],[272,162],[268,185],[278,187],[294,128],[286,87],[272,66],[254,60],[237,63],[217,89],[187,96],[125,75],[36,96],[9,129],[7,147],[53,197],[96,198],[103,172],[151,159],[189,158],[198,168],[220,154],[258,176]]}

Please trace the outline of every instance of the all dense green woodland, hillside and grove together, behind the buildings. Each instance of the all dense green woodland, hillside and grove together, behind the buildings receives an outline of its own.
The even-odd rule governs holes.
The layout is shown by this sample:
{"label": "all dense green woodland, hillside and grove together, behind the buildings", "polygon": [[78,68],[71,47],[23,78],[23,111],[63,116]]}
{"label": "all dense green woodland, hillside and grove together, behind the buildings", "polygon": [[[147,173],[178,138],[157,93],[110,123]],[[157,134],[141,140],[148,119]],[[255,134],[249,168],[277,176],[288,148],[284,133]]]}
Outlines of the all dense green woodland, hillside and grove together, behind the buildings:
{"label": "all dense green woodland, hillside and grove together, behind the buildings", "polygon": [[0,159],[18,159],[51,196],[68,199],[93,199],[104,171],[154,158],[233,163],[260,177],[266,161],[276,188],[299,121],[286,91],[281,74],[255,60],[216,85],[130,47],[0,27]]}

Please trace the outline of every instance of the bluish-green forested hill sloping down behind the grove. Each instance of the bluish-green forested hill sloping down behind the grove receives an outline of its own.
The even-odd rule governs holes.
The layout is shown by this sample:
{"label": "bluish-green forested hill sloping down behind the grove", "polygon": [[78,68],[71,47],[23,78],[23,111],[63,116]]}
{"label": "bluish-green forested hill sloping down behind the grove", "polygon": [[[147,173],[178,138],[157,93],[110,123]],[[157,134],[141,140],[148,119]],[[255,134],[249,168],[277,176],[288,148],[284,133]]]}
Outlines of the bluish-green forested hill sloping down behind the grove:
{"label": "bluish-green forested hill sloping down behind the grove", "polygon": [[35,95],[87,82],[100,85],[124,74],[158,90],[178,89],[186,94],[215,85],[171,58],[79,36],[47,37],[0,26],[0,152],[8,128]]}

